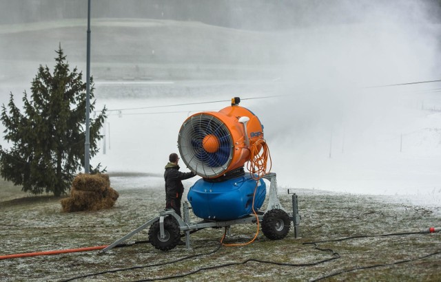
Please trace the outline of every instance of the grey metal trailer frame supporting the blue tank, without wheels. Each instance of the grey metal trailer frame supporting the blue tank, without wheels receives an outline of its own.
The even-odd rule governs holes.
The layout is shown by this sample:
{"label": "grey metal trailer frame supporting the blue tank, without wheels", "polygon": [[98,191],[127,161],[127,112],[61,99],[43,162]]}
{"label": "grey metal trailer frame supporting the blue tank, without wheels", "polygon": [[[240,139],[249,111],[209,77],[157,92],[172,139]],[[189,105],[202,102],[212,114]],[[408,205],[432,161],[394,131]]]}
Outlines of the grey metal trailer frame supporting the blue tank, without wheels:
{"label": "grey metal trailer frame supporting the blue tank, without wheels", "polygon": [[[265,213],[267,213],[269,210],[273,210],[275,208],[278,208],[280,210],[284,210],[285,213],[287,213],[287,210],[285,210],[285,208],[283,208],[282,204],[280,204],[280,201],[278,199],[276,173],[268,173],[263,178],[265,178],[266,180],[269,180],[269,182],[270,182],[268,206],[267,206],[267,210],[265,210]],[[288,193],[290,193],[289,190],[288,190]],[[292,213],[291,214],[287,213],[287,214],[289,215],[289,219],[291,219],[291,221],[293,221],[294,236],[297,238],[299,231],[300,231],[300,228],[299,228],[300,215],[298,213],[298,199],[297,199],[297,195],[295,193],[290,193],[290,194],[292,194]],[[191,208],[189,206],[189,202],[185,201],[183,204],[183,212],[184,212],[183,219],[181,219],[181,217],[179,215],[177,215],[174,212],[174,210],[163,210],[159,213],[158,217],[155,217],[154,219],[147,221],[145,224],[139,226],[139,228],[136,228],[135,230],[128,233],[127,235],[125,235],[121,239],[114,241],[114,243],[110,244],[109,246],[107,246],[106,248],[101,250],[101,253],[111,250],[119,243],[123,243],[125,240],[129,239],[130,237],[132,237],[136,233],[141,232],[142,230],[144,230],[148,226],[151,226],[156,221],[159,221],[159,229],[160,229],[161,238],[165,238],[166,235],[164,232],[164,219],[167,216],[174,217],[176,219],[176,221],[178,221],[180,230],[185,232],[185,248],[187,250],[191,249],[191,247],[190,247],[190,231],[192,231],[192,230],[199,230],[199,229],[210,228],[210,227],[214,227],[214,228],[227,227],[227,234],[229,234],[229,227],[232,225],[249,224],[249,223],[255,224],[256,223],[256,216],[254,214],[247,215],[246,217],[243,217],[240,219],[234,219],[234,220],[228,220],[228,221],[202,220],[202,221],[198,221],[198,222],[191,222],[190,218],[189,218],[189,210],[190,209]],[[263,220],[263,215],[265,215],[265,213],[263,213],[261,211],[256,212],[259,222],[261,222]]]}

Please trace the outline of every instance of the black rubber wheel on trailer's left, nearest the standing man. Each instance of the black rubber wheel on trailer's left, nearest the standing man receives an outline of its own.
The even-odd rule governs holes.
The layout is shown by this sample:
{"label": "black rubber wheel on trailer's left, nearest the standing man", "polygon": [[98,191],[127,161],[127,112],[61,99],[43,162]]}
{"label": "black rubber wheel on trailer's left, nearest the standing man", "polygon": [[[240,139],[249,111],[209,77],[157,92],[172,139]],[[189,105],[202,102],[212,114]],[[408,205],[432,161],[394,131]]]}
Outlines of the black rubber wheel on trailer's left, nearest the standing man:
{"label": "black rubber wheel on trailer's left, nearest the standing man", "polygon": [[161,238],[161,230],[159,229],[159,221],[156,221],[149,229],[149,240],[154,248],[158,250],[172,250],[176,247],[179,239],[181,239],[181,230],[178,221],[171,216],[164,219],[165,238]]}

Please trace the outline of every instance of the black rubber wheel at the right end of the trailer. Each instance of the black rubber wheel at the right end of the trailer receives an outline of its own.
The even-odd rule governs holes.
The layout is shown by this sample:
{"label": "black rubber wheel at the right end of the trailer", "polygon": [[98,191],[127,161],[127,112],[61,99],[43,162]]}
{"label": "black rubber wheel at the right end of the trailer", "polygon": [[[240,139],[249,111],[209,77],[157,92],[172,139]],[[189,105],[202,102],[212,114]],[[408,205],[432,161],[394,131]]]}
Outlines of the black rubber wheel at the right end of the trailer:
{"label": "black rubber wheel at the right end of the trailer", "polygon": [[268,210],[262,219],[262,232],[271,240],[280,240],[288,235],[291,228],[291,220],[284,210],[278,208]]}

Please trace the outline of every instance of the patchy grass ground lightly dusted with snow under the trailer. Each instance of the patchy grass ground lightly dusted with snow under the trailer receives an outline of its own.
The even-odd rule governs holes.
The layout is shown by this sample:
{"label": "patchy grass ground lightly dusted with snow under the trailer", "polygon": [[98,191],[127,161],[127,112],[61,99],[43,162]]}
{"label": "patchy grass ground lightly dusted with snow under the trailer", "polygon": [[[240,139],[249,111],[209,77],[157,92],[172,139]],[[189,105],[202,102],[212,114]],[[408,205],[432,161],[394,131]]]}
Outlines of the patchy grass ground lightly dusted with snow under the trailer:
{"label": "patchy grass ground lightly dusted with snow under the trailer", "polygon": [[[1,182],[0,240],[3,248],[0,255],[107,245],[152,219],[163,208],[163,186],[159,177],[118,175],[111,176],[110,180],[120,193],[116,206],[79,213],[62,213],[60,198],[23,197],[25,194],[19,188]],[[280,194],[283,206],[291,210],[290,196],[285,191]],[[393,204],[386,196],[299,189],[298,197],[302,216],[298,239],[294,238],[292,228],[288,237],[280,241],[271,241],[260,232],[254,243],[241,247],[222,246],[214,252],[223,229],[209,228],[192,235],[193,248],[189,251],[185,246],[178,246],[161,252],[145,243],[115,248],[101,255],[91,251],[5,259],[0,261],[0,280],[61,281],[136,266],[132,270],[107,272],[75,281],[161,279],[195,271],[177,280],[311,281],[336,274],[325,280],[438,281],[439,233],[327,240],[418,232],[429,226],[440,226],[440,210]],[[233,226],[225,242],[245,243],[255,232],[254,224]],[[133,239],[146,240],[147,230]],[[338,255],[305,244],[312,241],[327,241],[316,243],[316,246],[331,249]],[[433,254],[435,252],[438,254]],[[178,259],[181,261],[176,261]],[[326,262],[317,263],[320,261]]]}

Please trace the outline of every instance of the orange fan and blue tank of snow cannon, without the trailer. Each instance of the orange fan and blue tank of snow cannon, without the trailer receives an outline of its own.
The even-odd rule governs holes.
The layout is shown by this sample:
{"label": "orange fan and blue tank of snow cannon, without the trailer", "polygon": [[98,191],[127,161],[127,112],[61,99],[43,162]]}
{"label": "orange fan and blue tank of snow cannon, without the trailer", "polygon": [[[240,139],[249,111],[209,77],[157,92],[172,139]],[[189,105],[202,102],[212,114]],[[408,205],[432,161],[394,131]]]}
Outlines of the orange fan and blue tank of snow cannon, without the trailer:
{"label": "orange fan and blue tank of snow cannon, without the trailer", "polygon": [[187,195],[197,217],[239,219],[258,210],[265,200],[265,182],[244,169],[252,149],[262,148],[263,125],[239,102],[240,98],[232,98],[230,107],[189,116],[179,131],[181,158],[202,177]]}

